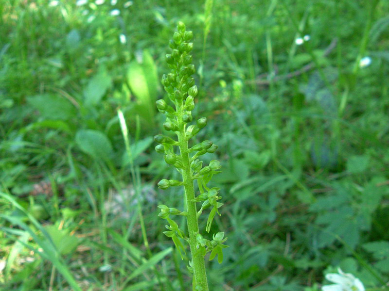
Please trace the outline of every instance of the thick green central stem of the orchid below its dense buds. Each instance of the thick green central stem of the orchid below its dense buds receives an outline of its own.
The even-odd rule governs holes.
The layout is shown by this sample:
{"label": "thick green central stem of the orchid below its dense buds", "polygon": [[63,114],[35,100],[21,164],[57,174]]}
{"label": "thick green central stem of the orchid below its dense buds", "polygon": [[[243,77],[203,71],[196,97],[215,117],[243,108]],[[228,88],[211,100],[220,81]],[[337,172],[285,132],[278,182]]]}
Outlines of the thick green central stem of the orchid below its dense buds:
{"label": "thick green central stem of the orchid below its dense buds", "polygon": [[186,208],[188,212],[188,216],[186,217],[186,219],[188,223],[189,244],[192,254],[194,279],[196,285],[202,287],[202,291],[209,291],[207,274],[205,271],[204,257],[196,249],[196,233],[199,233],[199,231],[196,203],[193,202],[193,200],[195,199],[195,188],[193,185],[191,166],[189,162],[188,140],[185,137],[185,125],[183,122],[179,123],[178,146],[181,154],[182,163],[184,165],[184,168],[182,170],[182,178],[184,182]]}

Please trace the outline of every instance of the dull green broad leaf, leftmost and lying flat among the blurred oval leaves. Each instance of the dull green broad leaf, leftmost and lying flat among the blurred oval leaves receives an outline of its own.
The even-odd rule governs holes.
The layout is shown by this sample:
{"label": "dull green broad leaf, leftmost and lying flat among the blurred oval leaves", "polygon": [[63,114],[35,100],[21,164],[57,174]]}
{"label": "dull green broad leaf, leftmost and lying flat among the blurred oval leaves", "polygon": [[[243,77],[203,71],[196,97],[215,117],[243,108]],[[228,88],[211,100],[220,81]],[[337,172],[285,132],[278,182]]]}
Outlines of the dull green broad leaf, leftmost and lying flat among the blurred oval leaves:
{"label": "dull green broad leaf, leftmost and lying flat among the blurred oval leaves", "polygon": [[75,116],[76,110],[65,97],[56,95],[36,95],[27,97],[27,103],[39,111],[45,119],[66,120]]}

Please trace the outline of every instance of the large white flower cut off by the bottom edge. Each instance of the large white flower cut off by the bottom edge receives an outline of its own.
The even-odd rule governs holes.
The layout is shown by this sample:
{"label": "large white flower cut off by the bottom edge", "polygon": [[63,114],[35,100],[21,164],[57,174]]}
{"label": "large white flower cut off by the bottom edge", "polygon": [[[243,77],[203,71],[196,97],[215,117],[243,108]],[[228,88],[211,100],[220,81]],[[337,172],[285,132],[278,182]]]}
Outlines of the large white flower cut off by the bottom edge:
{"label": "large white flower cut off by the bottom edge", "polygon": [[365,287],[362,282],[355,278],[354,275],[349,273],[343,273],[338,268],[339,274],[327,274],[325,278],[328,281],[334,282],[332,285],[325,285],[321,288],[322,291],[365,291]]}

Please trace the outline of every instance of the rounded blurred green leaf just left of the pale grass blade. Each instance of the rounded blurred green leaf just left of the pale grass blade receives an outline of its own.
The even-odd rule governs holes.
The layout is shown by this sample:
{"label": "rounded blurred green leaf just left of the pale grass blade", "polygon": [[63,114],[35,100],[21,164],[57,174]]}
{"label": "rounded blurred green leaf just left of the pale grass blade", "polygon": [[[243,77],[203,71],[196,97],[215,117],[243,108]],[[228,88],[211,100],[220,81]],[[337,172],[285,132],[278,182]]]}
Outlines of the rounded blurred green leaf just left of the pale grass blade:
{"label": "rounded blurred green leaf just left of the pale grass blade", "polygon": [[80,129],[77,131],[75,140],[77,146],[93,158],[107,159],[112,155],[111,142],[101,131]]}

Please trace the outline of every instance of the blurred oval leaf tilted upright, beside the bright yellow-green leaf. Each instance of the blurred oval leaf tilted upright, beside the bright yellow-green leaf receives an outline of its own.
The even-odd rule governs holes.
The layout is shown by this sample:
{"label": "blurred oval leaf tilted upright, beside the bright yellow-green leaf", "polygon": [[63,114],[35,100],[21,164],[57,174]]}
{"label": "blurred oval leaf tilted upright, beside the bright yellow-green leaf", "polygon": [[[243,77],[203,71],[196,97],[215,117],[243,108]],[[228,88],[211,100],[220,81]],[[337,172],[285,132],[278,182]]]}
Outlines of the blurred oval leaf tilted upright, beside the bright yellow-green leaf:
{"label": "blurred oval leaf tilted upright, beside the bright yellow-green leaf", "polygon": [[89,80],[84,90],[85,104],[96,105],[103,98],[106,91],[111,87],[112,79],[105,70],[101,70],[97,75]]}

